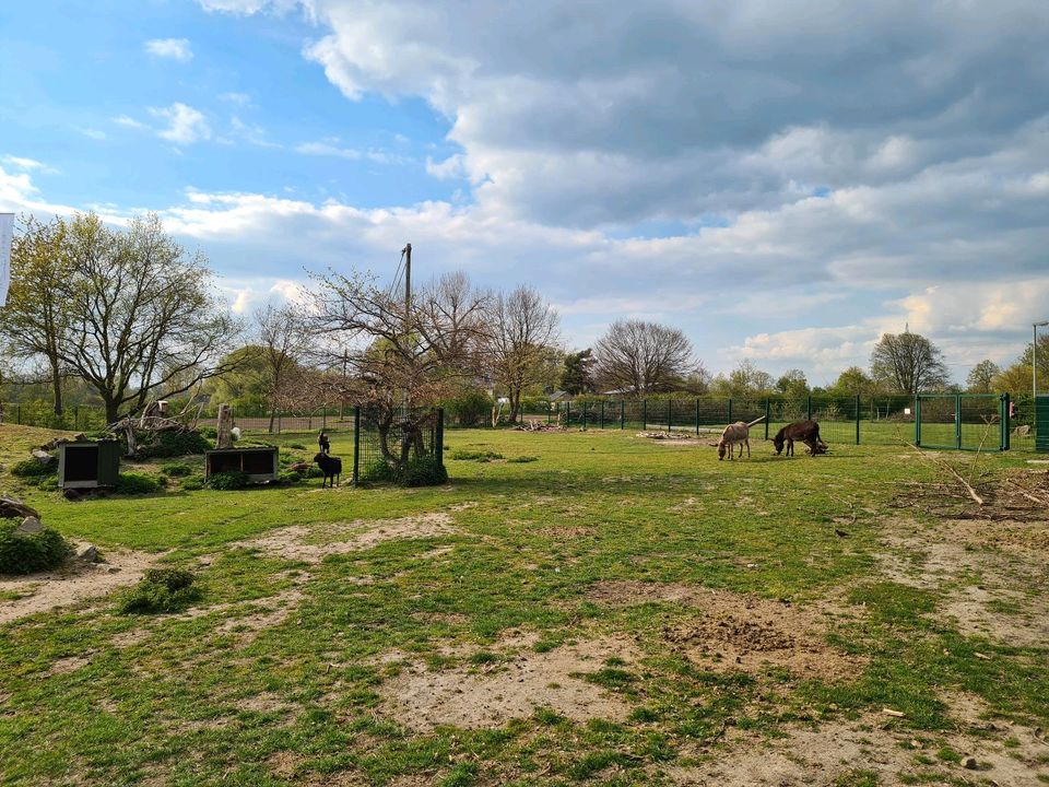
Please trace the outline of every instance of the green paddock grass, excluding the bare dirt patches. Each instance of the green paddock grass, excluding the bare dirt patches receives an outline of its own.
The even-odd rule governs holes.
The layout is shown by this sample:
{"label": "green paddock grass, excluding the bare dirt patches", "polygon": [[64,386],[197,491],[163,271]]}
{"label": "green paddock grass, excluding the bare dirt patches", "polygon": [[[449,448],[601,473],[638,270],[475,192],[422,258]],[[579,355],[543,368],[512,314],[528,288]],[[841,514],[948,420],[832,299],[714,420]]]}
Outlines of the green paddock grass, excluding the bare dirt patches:
{"label": "green paddock grass, excluding the bare dirt patches", "polygon": [[[0,463],[46,436],[0,427]],[[311,436],[276,442],[283,453]],[[899,446],[833,445],[830,456],[788,460],[755,441],[751,461],[718,462],[705,445],[659,445],[629,431],[449,431],[446,443],[452,456],[480,446],[542,460],[449,461],[451,480],[440,488],[321,491],[316,479],[229,493],[172,484],[76,503],[0,475],[64,536],[163,553],[162,565],[192,568],[204,588],[204,607],[192,614],[115,614],[114,594],[0,625],[0,784],[320,784],[346,771],[375,785],[412,776],[447,785],[645,783],[696,743],[717,740],[730,720],[771,735],[793,720],[893,707],[906,714],[900,727],[938,735],[953,725],[942,686],[978,694],[1012,718],[1049,723],[1042,656],[964,637],[930,614],[936,592],[879,576],[873,555],[884,521],[899,516],[892,504],[900,484],[935,472],[901,461]],[[332,453],[351,456],[350,435],[332,434]],[[199,458],[186,462],[199,468]],[[229,548],[290,525],[429,513],[451,516],[455,531],[309,567]],[[839,538],[835,528],[853,513]],[[452,549],[422,559],[440,547]],[[238,634],[252,604],[288,592],[302,571],[310,578],[292,613],[254,637]],[[353,582],[360,577],[370,584]],[[588,600],[594,583],[611,579],[702,585],[802,608],[838,599],[864,614],[842,619],[834,641],[868,666],[834,684],[710,671],[660,639],[693,610]],[[637,662],[612,658],[584,676],[625,697],[629,717],[575,723],[538,708],[497,729],[419,733],[382,712],[381,686],[400,668],[377,657],[396,649],[434,668],[497,671],[499,638],[518,630],[538,635],[537,653],[585,637],[636,641]],[[469,655],[448,655],[464,645]],[[74,669],[49,672],[85,654]],[[280,756],[294,768],[275,770]],[[862,768],[839,783],[877,784]]]}

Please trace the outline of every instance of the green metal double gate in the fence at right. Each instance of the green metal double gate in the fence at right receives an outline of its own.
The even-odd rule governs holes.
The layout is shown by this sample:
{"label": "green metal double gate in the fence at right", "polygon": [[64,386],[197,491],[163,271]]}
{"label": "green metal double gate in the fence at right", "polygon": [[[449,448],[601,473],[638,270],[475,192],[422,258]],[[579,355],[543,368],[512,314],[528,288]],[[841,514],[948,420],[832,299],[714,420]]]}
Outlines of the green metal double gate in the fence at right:
{"label": "green metal double gate in the fence at right", "polygon": [[1009,393],[919,393],[915,397],[915,445],[1009,450]]}

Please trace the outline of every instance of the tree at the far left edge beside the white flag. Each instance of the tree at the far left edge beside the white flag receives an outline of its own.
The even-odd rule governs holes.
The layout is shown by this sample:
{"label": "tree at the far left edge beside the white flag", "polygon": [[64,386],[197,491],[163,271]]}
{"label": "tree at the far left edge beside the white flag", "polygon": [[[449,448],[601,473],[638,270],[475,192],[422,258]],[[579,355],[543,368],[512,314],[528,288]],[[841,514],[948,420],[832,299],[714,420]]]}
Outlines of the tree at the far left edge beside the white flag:
{"label": "tree at the far left edge beside the white flag", "polygon": [[8,303],[0,309],[0,331],[11,355],[46,366],[56,415],[63,410],[60,346],[69,324],[64,287],[72,275],[67,230],[61,219],[24,220],[11,248]]}

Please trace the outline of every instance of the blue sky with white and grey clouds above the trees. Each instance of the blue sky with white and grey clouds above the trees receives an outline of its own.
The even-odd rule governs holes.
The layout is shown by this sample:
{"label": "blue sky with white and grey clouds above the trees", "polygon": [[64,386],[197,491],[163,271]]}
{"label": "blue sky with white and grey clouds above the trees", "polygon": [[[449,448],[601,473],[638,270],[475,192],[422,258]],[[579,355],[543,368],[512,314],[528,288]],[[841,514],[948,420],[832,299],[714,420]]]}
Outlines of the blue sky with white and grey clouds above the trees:
{"label": "blue sky with white and grey clouds above the trees", "polygon": [[5,2],[0,78],[0,211],[154,211],[246,316],[410,242],[715,373],[1049,319],[1045,0]]}

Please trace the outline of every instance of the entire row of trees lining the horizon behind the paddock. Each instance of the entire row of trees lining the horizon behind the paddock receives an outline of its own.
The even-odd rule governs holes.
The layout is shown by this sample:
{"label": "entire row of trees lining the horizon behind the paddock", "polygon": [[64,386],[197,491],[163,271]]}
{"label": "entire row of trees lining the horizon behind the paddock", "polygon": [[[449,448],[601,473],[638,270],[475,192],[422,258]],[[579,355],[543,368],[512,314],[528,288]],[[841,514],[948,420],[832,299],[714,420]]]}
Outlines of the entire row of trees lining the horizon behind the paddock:
{"label": "entire row of trees lining the horizon behind the paddock", "polygon": [[[942,351],[909,331],[883,336],[869,369],[848,368],[814,389],[800,369],[775,378],[750,361],[711,377],[681,330],[644,320],[617,320],[592,348],[566,353],[558,316],[535,290],[492,293],[463,273],[423,286],[411,304],[364,273],[316,274],[307,297],[266,306],[247,324],[229,314],[211,275],[208,260],[182,249],[156,216],[122,230],[90,213],[28,218],[14,243],[0,355],[22,380],[49,389],[57,414],[63,391],[91,391],[109,421],[151,399],[200,392],[271,413],[368,401],[393,419],[404,404],[482,390],[506,397],[516,420],[526,397],[556,389],[745,397],[950,388]],[[1039,356],[1049,366],[1045,341]],[[1028,345],[1006,369],[981,362],[969,390],[1025,389],[1030,353]],[[0,366],[0,384],[4,375]]]}

